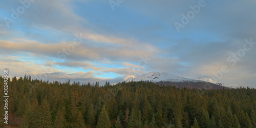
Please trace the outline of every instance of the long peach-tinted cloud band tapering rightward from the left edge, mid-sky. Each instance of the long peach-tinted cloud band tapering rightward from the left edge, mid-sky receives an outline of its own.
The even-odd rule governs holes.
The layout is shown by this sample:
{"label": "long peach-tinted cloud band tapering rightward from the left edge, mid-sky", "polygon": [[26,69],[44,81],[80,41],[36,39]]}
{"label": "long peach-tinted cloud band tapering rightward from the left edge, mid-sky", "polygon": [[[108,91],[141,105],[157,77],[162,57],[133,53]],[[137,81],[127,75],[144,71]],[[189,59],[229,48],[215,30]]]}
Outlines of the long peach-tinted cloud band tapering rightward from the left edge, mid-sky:
{"label": "long peach-tinted cloud band tapering rightward from the left edge, mid-sky", "polygon": [[[30,52],[39,55],[51,56],[60,59],[71,60],[98,60],[106,59],[111,61],[130,60],[136,61],[140,55],[154,55],[151,51],[139,49],[106,48],[104,46],[92,47],[81,44],[78,47],[67,43],[42,44],[37,41],[13,42],[0,40],[0,49],[9,51]],[[72,45],[72,46],[71,46]],[[69,51],[69,49],[71,49]],[[60,57],[61,56],[61,57]]]}

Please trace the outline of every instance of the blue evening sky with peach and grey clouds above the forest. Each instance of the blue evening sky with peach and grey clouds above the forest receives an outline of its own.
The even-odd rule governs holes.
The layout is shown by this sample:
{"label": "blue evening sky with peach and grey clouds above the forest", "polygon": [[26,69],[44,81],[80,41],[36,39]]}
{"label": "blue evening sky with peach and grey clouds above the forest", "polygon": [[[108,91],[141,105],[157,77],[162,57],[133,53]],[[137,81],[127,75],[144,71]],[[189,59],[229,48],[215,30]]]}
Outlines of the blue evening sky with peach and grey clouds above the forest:
{"label": "blue evening sky with peach and grey clouds above the forest", "polygon": [[256,1],[9,0],[0,71],[112,84],[147,72],[256,88]]}

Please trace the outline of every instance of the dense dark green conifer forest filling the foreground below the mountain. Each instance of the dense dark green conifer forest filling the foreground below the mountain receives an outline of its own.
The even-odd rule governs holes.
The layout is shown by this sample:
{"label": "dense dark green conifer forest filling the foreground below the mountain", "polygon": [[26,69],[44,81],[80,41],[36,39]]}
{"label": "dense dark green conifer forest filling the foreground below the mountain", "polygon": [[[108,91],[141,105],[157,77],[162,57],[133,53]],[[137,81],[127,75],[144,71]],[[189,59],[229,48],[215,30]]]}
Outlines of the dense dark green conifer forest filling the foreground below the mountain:
{"label": "dense dark green conifer forest filling the foreground below the mountain", "polygon": [[[9,123],[20,127],[256,127],[255,89],[191,90],[144,81],[79,85],[30,76],[8,83]],[[3,115],[2,76],[0,85]]]}

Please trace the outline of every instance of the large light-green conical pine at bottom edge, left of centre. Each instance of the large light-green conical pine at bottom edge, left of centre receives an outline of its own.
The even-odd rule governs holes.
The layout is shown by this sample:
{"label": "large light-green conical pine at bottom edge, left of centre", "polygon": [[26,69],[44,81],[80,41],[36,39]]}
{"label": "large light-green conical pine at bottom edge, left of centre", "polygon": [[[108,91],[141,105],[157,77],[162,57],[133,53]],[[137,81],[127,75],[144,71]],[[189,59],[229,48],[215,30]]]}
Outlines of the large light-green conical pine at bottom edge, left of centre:
{"label": "large light-green conical pine at bottom edge, left of centre", "polygon": [[105,106],[103,106],[103,108],[100,112],[96,127],[97,128],[102,128],[102,127],[109,128],[109,127],[111,127],[111,122],[110,122],[110,119],[109,119],[108,112],[106,112]]}

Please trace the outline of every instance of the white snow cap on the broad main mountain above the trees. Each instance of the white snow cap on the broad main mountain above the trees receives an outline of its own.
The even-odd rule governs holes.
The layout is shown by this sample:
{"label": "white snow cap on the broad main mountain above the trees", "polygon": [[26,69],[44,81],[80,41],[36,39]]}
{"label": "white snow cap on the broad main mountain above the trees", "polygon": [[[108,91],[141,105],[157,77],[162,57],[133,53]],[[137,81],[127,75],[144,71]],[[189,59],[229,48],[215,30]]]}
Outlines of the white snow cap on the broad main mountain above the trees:
{"label": "white snow cap on the broad main mountain above the trees", "polygon": [[151,82],[160,82],[160,81],[170,81],[170,82],[184,82],[184,81],[193,81],[198,82],[199,80],[195,79],[189,79],[182,76],[165,73],[165,72],[150,72],[147,74],[142,74],[138,76],[129,76],[126,77],[123,81],[129,82],[129,81],[151,81]]}

